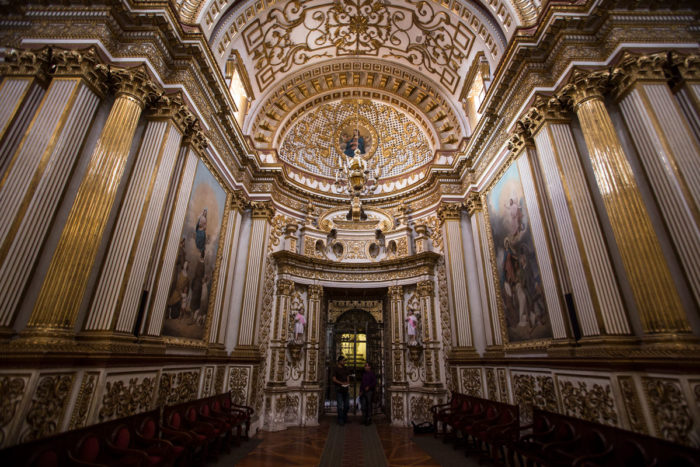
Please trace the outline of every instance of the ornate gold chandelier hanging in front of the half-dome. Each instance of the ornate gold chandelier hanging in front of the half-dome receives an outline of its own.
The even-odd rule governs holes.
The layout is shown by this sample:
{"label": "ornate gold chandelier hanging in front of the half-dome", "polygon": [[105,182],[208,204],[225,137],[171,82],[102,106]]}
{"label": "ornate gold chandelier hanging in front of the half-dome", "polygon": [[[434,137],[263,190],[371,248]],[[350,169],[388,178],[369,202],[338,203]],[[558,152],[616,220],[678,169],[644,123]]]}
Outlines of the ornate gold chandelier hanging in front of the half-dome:
{"label": "ornate gold chandelier hanging in front of the half-dome", "polygon": [[359,102],[355,107],[356,124],[352,136],[344,142],[343,155],[338,156],[338,168],[335,170],[335,191],[349,195],[350,212],[348,219],[364,220],[367,216],[362,210],[361,196],[372,194],[377,189],[379,168],[367,166],[362,158],[365,150],[364,137],[360,132]]}

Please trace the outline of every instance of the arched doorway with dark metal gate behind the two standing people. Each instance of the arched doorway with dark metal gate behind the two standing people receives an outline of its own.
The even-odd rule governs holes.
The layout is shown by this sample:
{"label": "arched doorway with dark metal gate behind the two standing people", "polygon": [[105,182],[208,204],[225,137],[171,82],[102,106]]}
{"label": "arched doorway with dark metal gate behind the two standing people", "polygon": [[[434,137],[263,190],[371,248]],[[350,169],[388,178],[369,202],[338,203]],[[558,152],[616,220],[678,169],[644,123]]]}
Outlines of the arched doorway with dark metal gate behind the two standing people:
{"label": "arched doorway with dark metal gate behind the two standing people", "polygon": [[334,321],[329,320],[324,412],[336,413],[335,387],[331,375],[340,355],[345,357],[345,366],[350,370],[350,413],[360,411],[360,382],[366,362],[377,377],[372,412],[384,412],[383,334],[382,322],[362,309],[348,310]]}

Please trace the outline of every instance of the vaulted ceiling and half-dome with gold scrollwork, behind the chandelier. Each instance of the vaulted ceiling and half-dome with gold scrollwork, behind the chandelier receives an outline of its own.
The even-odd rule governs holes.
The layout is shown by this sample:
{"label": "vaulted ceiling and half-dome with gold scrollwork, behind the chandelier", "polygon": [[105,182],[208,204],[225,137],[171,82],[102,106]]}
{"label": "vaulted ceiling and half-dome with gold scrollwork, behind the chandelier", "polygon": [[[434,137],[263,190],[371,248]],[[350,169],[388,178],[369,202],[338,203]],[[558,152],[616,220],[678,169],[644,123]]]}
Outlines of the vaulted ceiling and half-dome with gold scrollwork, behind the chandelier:
{"label": "vaulted ceiling and half-dome with gold scrollwork, behind the chandelier", "polygon": [[[369,162],[384,191],[449,165],[470,136],[473,63],[493,72],[535,0],[189,0],[222,71],[243,70],[252,102],[242,131],[262,162],[313,191],[332,185],[344,122],[375,131]],[[326,187],[324,189],[324,187]],[[381,192],[381,190],[380,190]]]}

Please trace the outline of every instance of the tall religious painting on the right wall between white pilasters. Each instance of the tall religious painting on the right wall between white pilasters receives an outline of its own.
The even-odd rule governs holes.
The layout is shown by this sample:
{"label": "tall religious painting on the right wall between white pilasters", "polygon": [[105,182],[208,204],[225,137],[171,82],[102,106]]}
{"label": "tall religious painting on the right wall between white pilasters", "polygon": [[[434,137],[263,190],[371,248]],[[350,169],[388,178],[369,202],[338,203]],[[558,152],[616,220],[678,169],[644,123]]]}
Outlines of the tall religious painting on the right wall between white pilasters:
{"label": "tall religious painting on the right wall between white pilasters", "polygon": [[552,337],[520,173],[512,164],[487,195],[509,342]]}

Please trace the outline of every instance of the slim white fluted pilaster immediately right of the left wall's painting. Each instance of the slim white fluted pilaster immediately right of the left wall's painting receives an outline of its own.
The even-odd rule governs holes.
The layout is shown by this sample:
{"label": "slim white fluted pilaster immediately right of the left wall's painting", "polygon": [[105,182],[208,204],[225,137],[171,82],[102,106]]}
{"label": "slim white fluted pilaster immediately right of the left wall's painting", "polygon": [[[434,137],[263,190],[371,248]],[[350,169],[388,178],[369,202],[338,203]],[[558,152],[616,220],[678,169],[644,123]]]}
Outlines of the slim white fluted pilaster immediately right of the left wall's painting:
{"label": "slim white fluted pilaster immediately right of the left wall's painting", "polygon": [[243,211],[247,202],[241,192],[234,191],[229,203],[228,225],[226,226],[226,240],[222,253],[221,263],[224,267],[220,272],[222,287],[216,292],[215,315],[212,321],[212,332],[210,333],[210,344],[224,346],[228,329],[233,291],[236,280],[236,263],[238,261],[238,244],[241,236],[241,224],[243,221]]}

